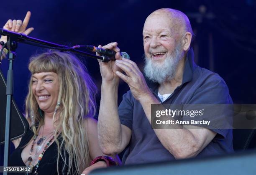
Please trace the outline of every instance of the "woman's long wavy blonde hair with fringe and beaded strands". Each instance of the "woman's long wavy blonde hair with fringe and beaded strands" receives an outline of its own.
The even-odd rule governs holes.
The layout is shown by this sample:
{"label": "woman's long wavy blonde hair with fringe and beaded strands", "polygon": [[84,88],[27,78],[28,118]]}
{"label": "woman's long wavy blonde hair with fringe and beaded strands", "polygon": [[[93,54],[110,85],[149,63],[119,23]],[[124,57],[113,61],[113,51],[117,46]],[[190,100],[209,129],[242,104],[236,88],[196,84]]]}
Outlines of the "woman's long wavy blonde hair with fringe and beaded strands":
{"label": "woman's long wavy blonde hair with fringe and beaded strands", "polygon": [[[85,118],[95,115],[97,88],[84,64],[71,53],[49,50],[31,57],[28,68],[32,75],[40,72],[58,74],[59,95],[53,121],[58,111],[59,117],[55,122],[54,136],[57,138],[57,131],[59,131],[62,140],[55,139],[58,146],[57,170],[58,174],[64,174],[65,165],[67,165],[67,174],[81,174],[82,170],[90,165]],[[39,107],[32,93],[32,75],[26,97],[26,118],[31,120],[33,116],[36,126],[32,128],[36,134],[44,124],[44,117],[41,117],[38,112]],[[64,165],[59,172],[61,159]]]}

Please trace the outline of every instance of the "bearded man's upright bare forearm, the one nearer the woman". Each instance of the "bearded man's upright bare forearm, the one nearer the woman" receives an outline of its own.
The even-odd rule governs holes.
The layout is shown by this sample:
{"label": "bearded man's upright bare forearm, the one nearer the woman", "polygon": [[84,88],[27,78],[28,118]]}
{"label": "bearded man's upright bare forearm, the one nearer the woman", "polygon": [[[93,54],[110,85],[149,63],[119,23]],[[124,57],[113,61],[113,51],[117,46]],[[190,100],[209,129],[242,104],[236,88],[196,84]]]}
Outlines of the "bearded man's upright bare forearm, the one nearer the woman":
{"label": "bearded man's upright bare forearm, the one nearer the woman", "polygon": [[98,133],[100,147],[105,154],[118,152],[121,144],[121,124],[117,102],[118,83],[102,81]]}

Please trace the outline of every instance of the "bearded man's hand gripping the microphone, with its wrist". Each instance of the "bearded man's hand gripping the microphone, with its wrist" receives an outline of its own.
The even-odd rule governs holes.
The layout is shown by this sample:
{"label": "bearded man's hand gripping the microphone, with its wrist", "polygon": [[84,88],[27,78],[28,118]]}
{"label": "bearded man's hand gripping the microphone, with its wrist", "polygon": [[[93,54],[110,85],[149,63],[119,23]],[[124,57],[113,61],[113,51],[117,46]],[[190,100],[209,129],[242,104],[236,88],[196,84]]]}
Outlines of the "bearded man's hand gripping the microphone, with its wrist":
{"label": "bearded man's hand gripping the microphone, with its wrist", "polygon": [[[118,43],[114,42],[114,43],[109,43],[106,46],[101,46],[99,45],[99,48],[104,48],[104,49],[110,49],[116,52],[115,54],[115,59],[116,60],[122,60],[122,56],[120,55],[120,49],[117,47]],[[99,54],[97,54],[99,56]],[[115,74],[116,71],[120,71],[120,68],[118,68],[118,66],[115,65],[115,61],[109,61],[108,63],[104,63],[100,60],[99,64],[100,64],[100,74],[102,76],[102,81],[106,81],[106,82],[113,82],[113,81],[117,81],[119,80],[118,76]]]}

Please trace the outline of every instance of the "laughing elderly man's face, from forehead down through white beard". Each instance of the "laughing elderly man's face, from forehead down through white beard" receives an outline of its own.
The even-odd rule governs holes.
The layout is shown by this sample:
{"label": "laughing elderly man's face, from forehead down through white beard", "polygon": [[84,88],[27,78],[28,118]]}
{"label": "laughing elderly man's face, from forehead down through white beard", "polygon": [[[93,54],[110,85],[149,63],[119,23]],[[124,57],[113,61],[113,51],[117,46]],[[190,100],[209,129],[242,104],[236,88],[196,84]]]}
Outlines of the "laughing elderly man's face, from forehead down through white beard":
{"label": "laughing elderly man's face, from forehead down through white beard", "polygon": [[146,20],[143,29],[144,72],[148,79],[159,84],[175,77],[184,56],[181,39],[171,26],[169,17],[154,15]]}

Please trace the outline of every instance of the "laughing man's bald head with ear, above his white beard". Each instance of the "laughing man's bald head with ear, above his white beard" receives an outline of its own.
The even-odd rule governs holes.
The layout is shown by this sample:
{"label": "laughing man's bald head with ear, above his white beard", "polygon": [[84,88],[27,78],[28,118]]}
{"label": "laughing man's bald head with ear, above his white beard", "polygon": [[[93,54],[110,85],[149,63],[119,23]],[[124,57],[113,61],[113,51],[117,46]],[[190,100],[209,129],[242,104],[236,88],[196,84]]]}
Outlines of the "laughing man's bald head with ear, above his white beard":
{"label": "laughing man's bald head with ear, above his white beard", "polygon": [[[189,51],[192,35],[189,19],[184,13],[169,8],[156,10],[148,16],[143,28],[145,56],[159,65],[164,60],[179,63]],[[170,64],[177,68],[177,64]]]}

